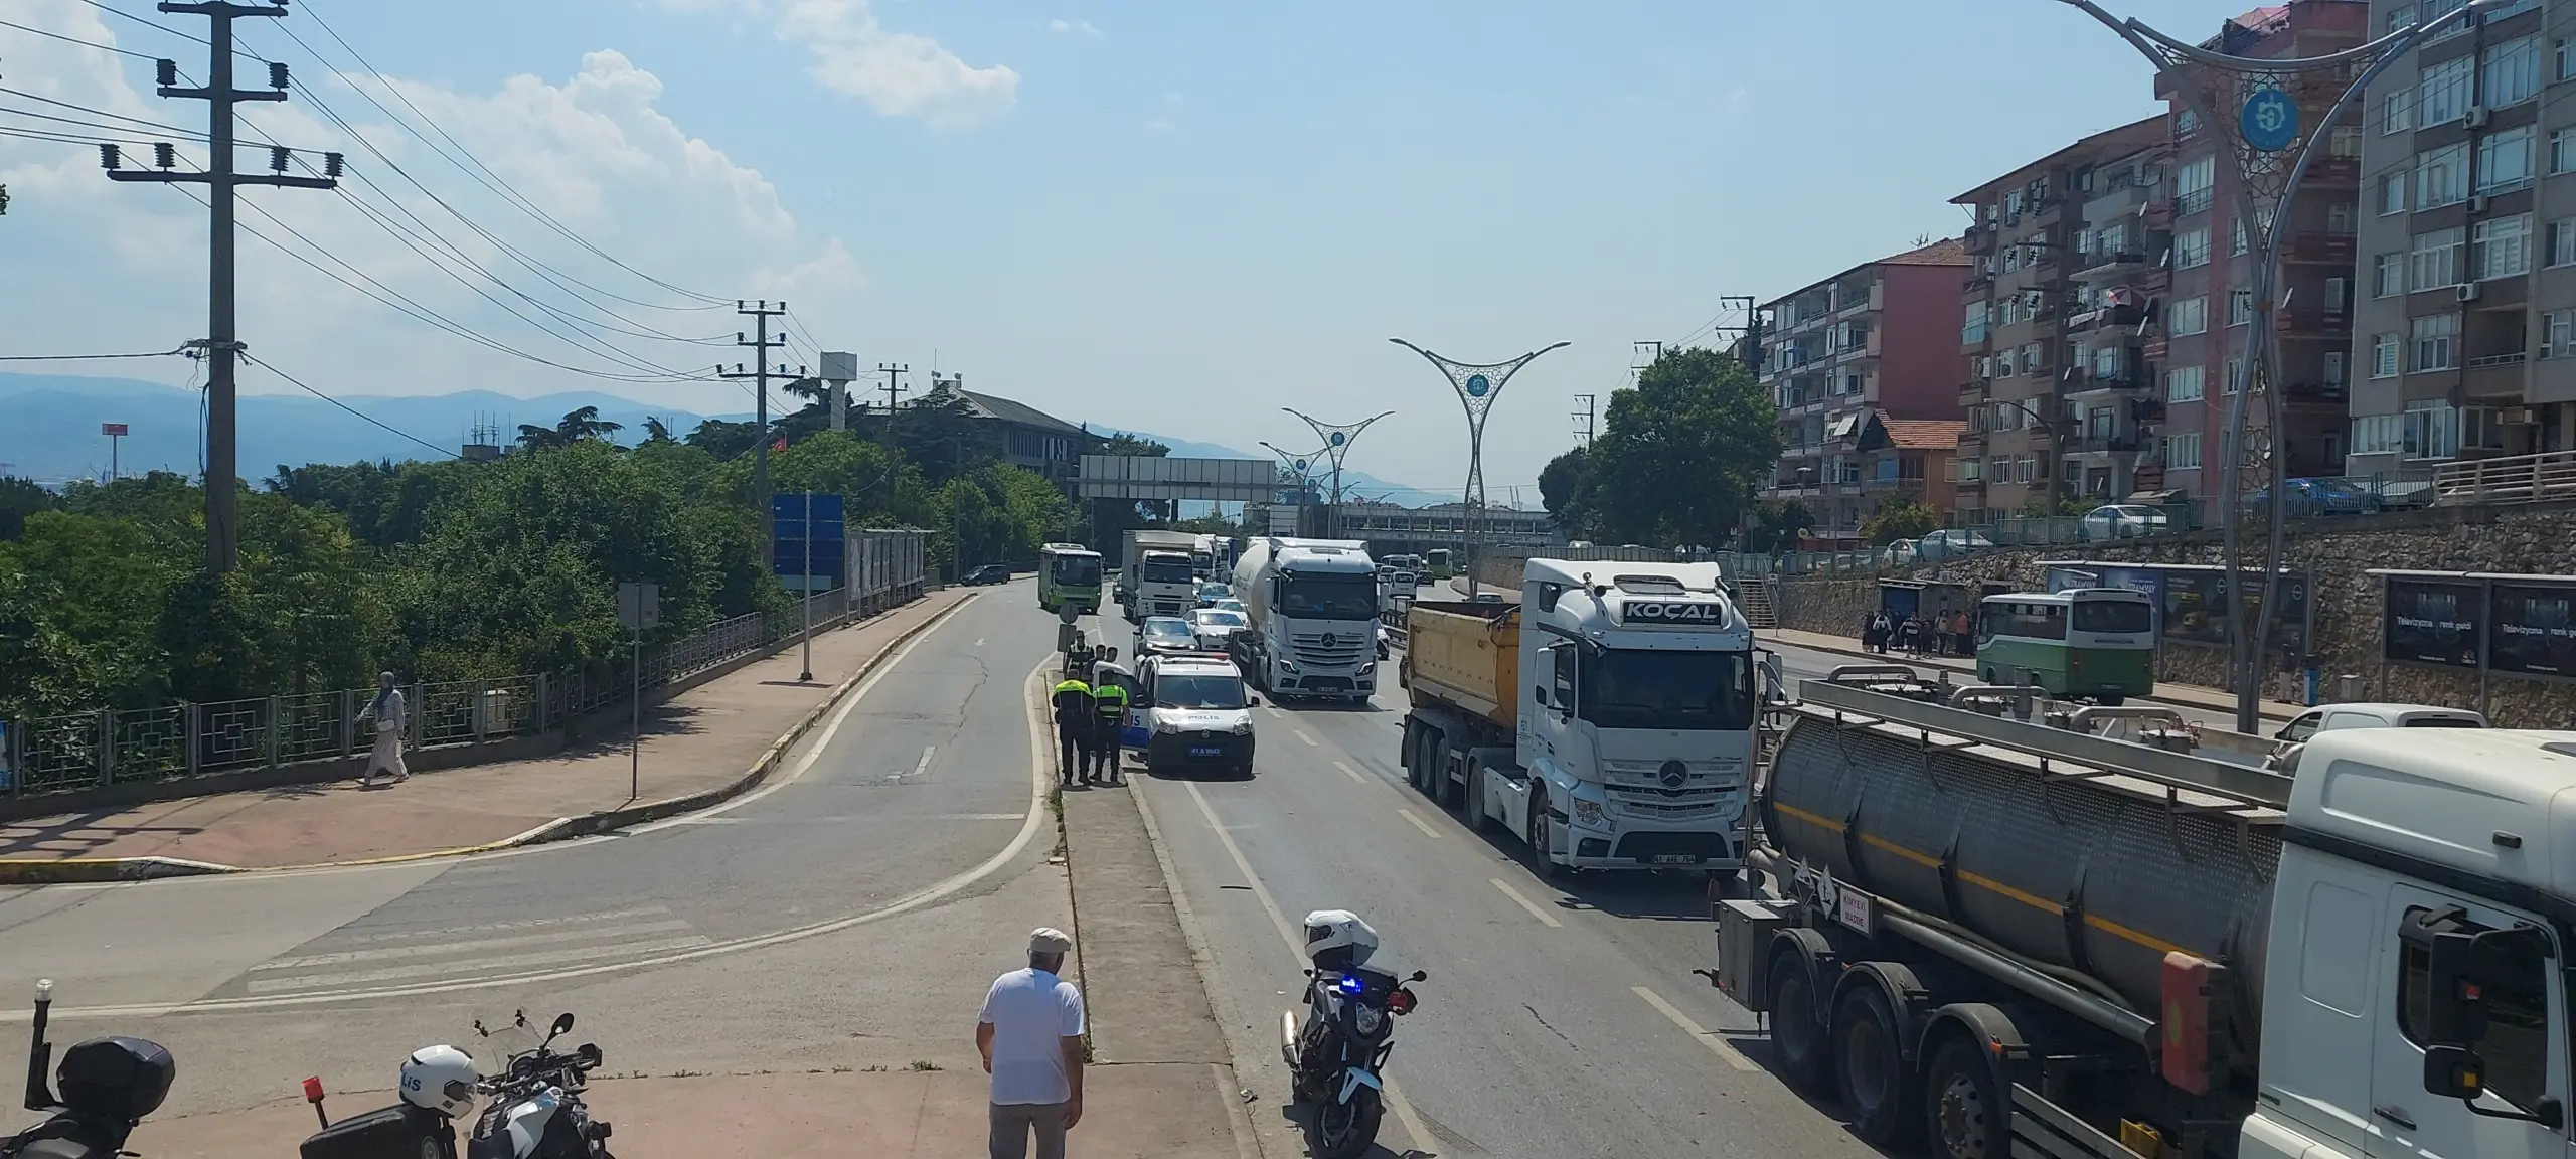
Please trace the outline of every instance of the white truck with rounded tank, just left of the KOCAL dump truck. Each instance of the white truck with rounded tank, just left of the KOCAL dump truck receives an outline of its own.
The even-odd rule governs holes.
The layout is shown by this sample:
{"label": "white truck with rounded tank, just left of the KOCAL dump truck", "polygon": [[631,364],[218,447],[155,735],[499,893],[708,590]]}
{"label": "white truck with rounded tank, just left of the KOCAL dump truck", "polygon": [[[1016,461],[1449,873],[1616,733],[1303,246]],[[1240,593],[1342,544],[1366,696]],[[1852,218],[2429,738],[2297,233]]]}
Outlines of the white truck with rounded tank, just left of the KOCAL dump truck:
{"label": "white truck with rounded tank, just left of the KOCAL dump truck", "polygon": [[1365,543],[1255,536],[1234,564],[1234,598],[1252,621],[1234,634],[1252,688],[1352,703],[1378,690],[1378,564]]}

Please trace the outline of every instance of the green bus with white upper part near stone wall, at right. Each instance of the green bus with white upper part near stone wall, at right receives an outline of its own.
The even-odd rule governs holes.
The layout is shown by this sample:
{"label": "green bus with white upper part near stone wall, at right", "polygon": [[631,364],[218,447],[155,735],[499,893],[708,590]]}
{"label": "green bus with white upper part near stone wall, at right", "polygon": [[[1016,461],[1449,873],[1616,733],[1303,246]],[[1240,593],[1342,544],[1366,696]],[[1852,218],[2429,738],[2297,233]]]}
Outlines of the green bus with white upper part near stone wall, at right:
{"label": "green bus with white upper part near stone wall, at right", "polygon": [[2120,703],[2156,690],[2156,605],[2128,587],[1989,595],[1976,605],[1976,675],[2056,698]]}

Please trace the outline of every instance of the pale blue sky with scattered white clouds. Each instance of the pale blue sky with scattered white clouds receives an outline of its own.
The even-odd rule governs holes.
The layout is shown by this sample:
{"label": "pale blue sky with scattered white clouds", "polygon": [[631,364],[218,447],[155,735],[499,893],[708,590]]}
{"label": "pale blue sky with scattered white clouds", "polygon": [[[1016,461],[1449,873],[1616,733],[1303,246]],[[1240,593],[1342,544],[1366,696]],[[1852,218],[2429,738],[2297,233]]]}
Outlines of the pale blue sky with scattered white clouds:
{"label": "pale blue sky with scattered white clouds", "polygon": [[[2246,5],[2105,8],[2205,39]],[[206,106],[155,95],[149,57],[206,82],[206,21],[0,21],[0,358],[204,337],[201,185],[111,183],[93,142],[28,134],[204,167],[170,126]],[[1486,422],[1492,500],[1530,505],[1631,343],[1713,340],[1721,296],[1958,234],[1960,191],[2156,111],[2146,62],[2053,0],[291,0],[237,28],[237,88],[263,59],[294,80],[242,106],[237,165],[348,157],[337,191],[242,193],[245,391],[747,412],[706,373],[752,361],[734,299],[783,299],[786,363],[850,350],[1239,448],[1321,443],[1280,407],[1394,412],[1350,466],[1455,492],[1466,415],[1388,337],[1476,363],[1571,343]]]}

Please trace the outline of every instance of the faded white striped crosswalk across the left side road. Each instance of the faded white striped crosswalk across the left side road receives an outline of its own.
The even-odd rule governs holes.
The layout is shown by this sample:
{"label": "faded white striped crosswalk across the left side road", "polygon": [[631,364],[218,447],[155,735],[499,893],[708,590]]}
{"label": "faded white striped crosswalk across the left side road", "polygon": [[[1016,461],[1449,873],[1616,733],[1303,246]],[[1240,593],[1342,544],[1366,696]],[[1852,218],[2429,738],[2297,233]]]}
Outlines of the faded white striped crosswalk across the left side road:
{"label": "faded white striped crosswalk across the left side road", "polygon": [[250,997],[325,994],[577,968],[714,945],[665,907],[446,927],[345,925],[250,968]]}

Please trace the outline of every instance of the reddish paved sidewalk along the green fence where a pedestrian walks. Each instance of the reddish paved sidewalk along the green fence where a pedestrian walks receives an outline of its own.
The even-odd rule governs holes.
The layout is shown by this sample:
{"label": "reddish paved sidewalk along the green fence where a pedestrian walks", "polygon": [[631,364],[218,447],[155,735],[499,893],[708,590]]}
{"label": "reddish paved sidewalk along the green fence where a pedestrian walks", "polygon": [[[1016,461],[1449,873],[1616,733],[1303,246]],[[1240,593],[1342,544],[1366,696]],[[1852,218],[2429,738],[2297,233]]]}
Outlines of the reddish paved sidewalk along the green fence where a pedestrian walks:
{"label": "reddish paved sidewalk along the green fence where a pedestrian walks", "polygon": [[714,804],[757,783],[783,755],[781,737],[811,724],[842,683],[966,595],[971,590],[930,592],[814,636],[814,683],[796,680],[801,649],[788,646],[644,706],[634,793],[618,729],[551,757],[412,773],[407,783],[374,791],[337,780],[0,822],[0,881],[67,881],[75,868],[113,878],[121,865],[95,863],[131,858],[214,871],[417,858],[556,834],[546,829],[582,832],[603,822],[590,814],[623,814],[636,804],[685,809],[677,801],[696,796]]}

